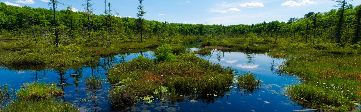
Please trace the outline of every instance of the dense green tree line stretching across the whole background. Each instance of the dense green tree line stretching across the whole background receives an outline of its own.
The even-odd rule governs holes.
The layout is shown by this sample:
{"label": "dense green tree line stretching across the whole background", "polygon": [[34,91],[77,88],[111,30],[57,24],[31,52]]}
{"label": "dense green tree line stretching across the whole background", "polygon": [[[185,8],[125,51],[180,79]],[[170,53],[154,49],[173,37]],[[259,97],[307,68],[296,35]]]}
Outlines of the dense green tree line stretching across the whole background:
{"label": "dense green tree line stretching across the whole background", "polygon": [[[335,42],[351,45],[360,42],[361,5],[336,1],[339,9],[325,13],[306,13],[301,18],[288,22],[263,22],[252,25],[182,24],[148,21],[143,18],[143,0],[139,1],[137,18],[116,17],[119,15],[111,4],[104,0],[104,14],[94,14],[91,0],[84,2],[86,11],[74,12],[71,6],[56,10],[58,0],[49,3],[50,9],[17,7],[0,3],[0,33],[19,37],[23,42],[39,41],[61,44],[80,43],[84,46],[106,46],[114,41],[140,40],[147,38],[186,38],[206,36],[212,38],[285,38],[289,41],[315,43]],[[113,14],[114,13],[114,14]],[[206,22],[205,22],[206,23]],[[250,34],[254,33],[254,34]]]}

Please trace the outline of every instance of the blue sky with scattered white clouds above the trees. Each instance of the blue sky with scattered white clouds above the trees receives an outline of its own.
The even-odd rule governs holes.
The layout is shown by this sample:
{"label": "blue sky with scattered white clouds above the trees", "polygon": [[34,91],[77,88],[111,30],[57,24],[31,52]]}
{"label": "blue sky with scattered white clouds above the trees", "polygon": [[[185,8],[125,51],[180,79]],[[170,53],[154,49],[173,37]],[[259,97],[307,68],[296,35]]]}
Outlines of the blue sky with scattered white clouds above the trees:
{"label": "blue sky with scattered white clouds above the trees", "polygon": [[[8,5],[30,6],[48,9],[48,0],[0,0]],[[74,11],[84,11],[84,0],[59,0],[57,10],[68,5]],[[91,0],[93,12],[101,14],[104,0]],[[137,0],[107,0],[119,16],[136,17]],[[360,5],[361,0],[349,2]],[[170,23],[189,24],[252,24],[279,20],[287,22],[292,17],[302,17],[308,12],[326,12],[335,9],[330,0],[144,0],[147,20],[168,21]],[[115,14],[113,12],[113,14]]]}

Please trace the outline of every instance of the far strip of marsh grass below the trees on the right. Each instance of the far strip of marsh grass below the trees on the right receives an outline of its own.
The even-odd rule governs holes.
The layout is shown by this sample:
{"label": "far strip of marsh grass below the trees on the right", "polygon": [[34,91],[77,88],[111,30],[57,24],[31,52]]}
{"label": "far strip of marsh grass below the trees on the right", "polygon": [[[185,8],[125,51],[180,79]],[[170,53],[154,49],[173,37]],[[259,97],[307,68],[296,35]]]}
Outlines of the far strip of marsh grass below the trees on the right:
{"label": "far strip of marsh grass below the trees on the right", "polygon": [[253,44],[249,43],[251,38],[222,38],[211,39],[203,38],[204,41],[198,43],[200,46],[213,46],[213,48],[231,48],[239,51],[307,51],[307,52],[325,52],[333,54],[360,54],[360,47],[355,45],[341,47],[338,43],[318,42],[316,44],[304,43],[299,41],[290,41],[287,38],[254,38]]}

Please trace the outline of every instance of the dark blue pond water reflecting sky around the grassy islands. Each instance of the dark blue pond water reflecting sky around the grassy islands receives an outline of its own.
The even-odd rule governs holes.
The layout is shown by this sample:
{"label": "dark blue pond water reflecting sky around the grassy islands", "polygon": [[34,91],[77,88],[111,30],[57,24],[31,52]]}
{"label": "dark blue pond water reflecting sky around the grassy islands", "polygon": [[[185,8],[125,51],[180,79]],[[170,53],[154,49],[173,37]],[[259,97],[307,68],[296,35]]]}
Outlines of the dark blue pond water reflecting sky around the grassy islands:
{"label": "dark blue pond water reflecting sky around the grassy islands", "polygon": [[[195,51],[192,48],[188,51]],[[167,102],[156,99],[152,103],[138,102],[130,107],[114,107],[106,97],[110,84],[106,81],[106,73],[113,65],[132,60],[138,55],[153,59],[152,51],[127,53],[100,59],[99,64],[86,65],[77,69],[68,70],[12,70],[0,69],[0,84],[8,84],[10,89],[19,89],[20,84],[39,81],[43,83],[55,82],[65,95],[60,97],[71,102],[82,111],[162,111],[162,112],[219,112],[219,111],[245,111],[245,112],[284,112],[303,109],[285,95],[287,85],[299,83],[296,76],[280,74],[277,66],[282,65],[285,59],[269,57],[267,53],[225,52],[212,50],[211,55],[199,57],[210,62],[219,63],[224,67],[232,67],[238,73],[251,72],[261,79],[262,87],[254,92],[244,92],[231,86],[222,97],[211,101],[188,100],[190,96],[183,96],[184,100]],[[103,78],[103,85],[99,88],[86,88],[84,78],[99,76]],[[194,97],[194,96],[193,96]]]}

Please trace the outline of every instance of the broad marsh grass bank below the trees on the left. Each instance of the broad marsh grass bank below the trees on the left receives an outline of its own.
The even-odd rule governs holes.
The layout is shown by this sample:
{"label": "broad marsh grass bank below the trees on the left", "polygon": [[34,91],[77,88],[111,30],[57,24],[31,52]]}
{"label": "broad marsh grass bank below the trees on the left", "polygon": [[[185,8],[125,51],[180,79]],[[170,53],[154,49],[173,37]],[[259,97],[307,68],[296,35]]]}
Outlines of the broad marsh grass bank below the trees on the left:
{"label": "broad marsh grass bank below the trees on the left", "polygon": [[94,64],[104,56],[125,52],[124,50],[155,48],[159,45],[156,39],[142,43],[137,41],[118,41],[108,47],[83,47],[70,44],[55,48],[50,43],[0,43],[0,48],[9,50],[0,53],[0,65],[6,67],[42,66],[54,69],[68,69],[82,65]]}

